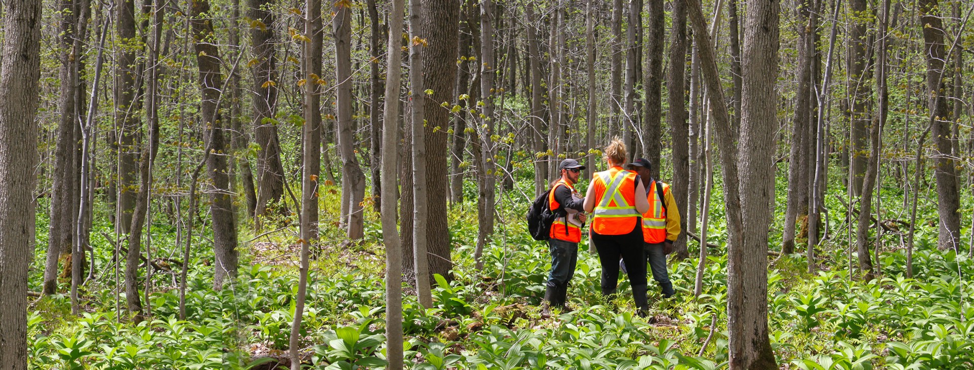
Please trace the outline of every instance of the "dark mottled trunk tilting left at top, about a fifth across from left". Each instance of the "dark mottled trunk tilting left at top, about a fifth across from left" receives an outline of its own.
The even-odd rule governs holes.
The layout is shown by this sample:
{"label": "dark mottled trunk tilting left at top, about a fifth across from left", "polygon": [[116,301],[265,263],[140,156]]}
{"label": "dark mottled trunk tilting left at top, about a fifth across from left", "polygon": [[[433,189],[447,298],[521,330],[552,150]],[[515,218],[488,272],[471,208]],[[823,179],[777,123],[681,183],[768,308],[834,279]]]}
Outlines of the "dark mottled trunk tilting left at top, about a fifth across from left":
{"label": "dark mottled trunk tilting left at top, about a fifth across from left", "polygon": [[[220,55],[215,44],[209,42],[213,25],[209,16],[209,1],[193,1],[190,25],[193,27],[196,60],[200,69],[200,121],[206,128],[206,151],[226,151],[227,143],[217,108],[223,89]],[[213,288],[221,289],[228,278],[237,277],[237,224],[230,198],[230,176],[224,156],[206,156],[206,172],[214,190],[209,196],[212,214],[213,254],[215,255]]]}

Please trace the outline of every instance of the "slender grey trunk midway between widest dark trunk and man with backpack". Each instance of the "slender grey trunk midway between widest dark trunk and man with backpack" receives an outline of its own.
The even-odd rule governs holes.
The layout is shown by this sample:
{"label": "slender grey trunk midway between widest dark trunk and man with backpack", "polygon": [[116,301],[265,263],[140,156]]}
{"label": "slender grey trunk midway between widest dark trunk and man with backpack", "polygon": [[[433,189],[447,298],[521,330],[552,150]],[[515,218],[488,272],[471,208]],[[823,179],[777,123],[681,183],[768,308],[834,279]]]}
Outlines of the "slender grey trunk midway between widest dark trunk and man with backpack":
{"label": "slender grey trunk midway between widest dark trunk and man with backpack", "polygon": [[[484,246],[494,234],[494,200],[497,169],[494,163],[494,78],[497,75],[497,59],[494,56],[494,2],[484,0],[480,4],[480,97],[481,129],[480,146],[483,179],[478,181],[480,197],[477,200],[477,245],[473,251],[476,269],[483,270]],[[557,77],[555,77],[557,78]]]}

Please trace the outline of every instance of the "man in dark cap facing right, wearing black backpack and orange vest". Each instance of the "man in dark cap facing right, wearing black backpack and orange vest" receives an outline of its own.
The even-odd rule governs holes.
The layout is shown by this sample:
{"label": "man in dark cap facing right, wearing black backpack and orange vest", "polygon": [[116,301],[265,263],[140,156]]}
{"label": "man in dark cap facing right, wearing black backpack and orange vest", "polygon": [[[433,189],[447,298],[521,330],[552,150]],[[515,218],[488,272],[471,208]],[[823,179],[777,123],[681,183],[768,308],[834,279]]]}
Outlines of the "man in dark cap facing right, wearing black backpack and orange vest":
{"label": "man in dark cap facing right, wearing black backpack and orange vest", "polygon": [[549,314],[550,308],[565,310],[568,283],[575,275],[581,226],[585,223],[585,214],[581,213],[583,200],[575,190],[582,169],[585,169],[585,166],[579,165],[576,160],[562,161],[558,166],[561,178],[551,185],[551,191],[548,192],[548,207],[558,215],[558,218],[551,223],[551,232],[548,235],[551,273],[545,283],[544,314]]}

